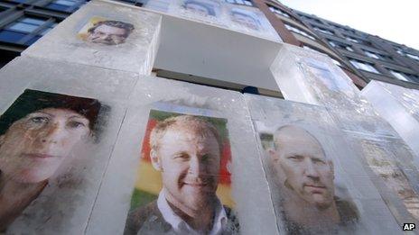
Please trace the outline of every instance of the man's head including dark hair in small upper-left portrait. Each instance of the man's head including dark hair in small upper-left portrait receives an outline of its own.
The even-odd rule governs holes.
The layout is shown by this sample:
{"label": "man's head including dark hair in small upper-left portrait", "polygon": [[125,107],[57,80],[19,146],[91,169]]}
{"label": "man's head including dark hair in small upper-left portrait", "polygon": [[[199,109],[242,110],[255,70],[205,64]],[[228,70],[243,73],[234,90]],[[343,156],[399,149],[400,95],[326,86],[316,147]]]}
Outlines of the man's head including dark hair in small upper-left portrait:
{"label": "man's head including dark hair in small upper-left portrait", "polygon": [[104,45],[124,43],[129,34],[134,31],[134,25],[118,21],[100,21],[88,29],[86,41]]}

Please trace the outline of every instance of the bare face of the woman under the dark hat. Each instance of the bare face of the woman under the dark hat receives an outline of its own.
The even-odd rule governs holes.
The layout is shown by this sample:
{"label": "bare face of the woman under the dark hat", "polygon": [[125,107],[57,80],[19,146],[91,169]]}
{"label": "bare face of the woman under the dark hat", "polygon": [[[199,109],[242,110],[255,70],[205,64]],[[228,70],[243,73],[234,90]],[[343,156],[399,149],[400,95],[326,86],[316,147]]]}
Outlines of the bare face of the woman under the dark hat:
{"label": "bare face of the woman under the dark hat", "polygon": [[14,181],[41,182],[89,133],[88,119],[74,111],[47,108],[30,113],[0,136],[0,170]]}

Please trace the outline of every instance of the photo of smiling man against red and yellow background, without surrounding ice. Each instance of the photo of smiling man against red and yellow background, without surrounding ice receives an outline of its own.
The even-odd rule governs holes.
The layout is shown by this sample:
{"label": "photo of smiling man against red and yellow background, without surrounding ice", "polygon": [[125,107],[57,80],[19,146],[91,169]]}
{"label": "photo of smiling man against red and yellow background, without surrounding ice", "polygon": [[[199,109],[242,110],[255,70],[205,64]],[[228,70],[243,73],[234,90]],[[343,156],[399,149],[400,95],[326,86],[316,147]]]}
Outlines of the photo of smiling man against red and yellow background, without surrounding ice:
{"label": "photo of smiling man against red and yellow background, without surrounding ice", "polygon": [[237,234],[227,120],[152,110],[125,234]]}

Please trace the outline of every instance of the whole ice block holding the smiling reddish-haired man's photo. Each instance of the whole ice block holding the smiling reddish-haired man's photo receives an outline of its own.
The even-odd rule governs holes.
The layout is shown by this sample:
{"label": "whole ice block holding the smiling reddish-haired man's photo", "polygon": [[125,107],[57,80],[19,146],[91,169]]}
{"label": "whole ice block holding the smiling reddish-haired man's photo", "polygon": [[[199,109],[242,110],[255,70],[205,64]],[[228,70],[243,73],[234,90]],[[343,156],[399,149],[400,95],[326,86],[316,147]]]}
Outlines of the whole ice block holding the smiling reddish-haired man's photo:
{"label": "whole ice block holding the smiling reddish-haired man's photo", "polygon": [[[185,114],[192,117],[186,118]],[[168,118],[171,116],[192,121],[172,120],[169,122]],[[204,124],[205,122],[202,120],[207,124]],[[182,124],[182,128],[172,127],[172,129],[168,128],[169,131],[166,130],[166,132],[155,131],[162,130],[155,128],[157,123],[159,128],[164,128],[164,126],[174,125],[171,124],[173,122],[178,125],[181,125],[179,123],[184,124]],[[202,163],[200,161],[202,156],[212,158],[210,156],[218,156],[218,154],[202,155],[203,153],[200,153],[197,155],[199,158],[193,157],[190,150],[182,148],[185,146],[192,148],[196,146],[196,143],[184,140],[183,135],[186,130],[191,130],[190,134],[193,136],[191,140],[201,142],[204,149],[211,149],[207,145],[209,139],[213,140],[211,139],[212,134],[206,134],[209,127],[206,127],[207,131],[205,129],[200,131],[200,137],[195,137],[197,132],[193,131],[202,126],[209,126],[208,122],[217,130],[218,142],[222,141],[219,146],[222,146],[222,149],[220,157],[213,158],[213,160],[208,159],[206,163]],[[172,138],[167,137],[173,131],[176,131],[176,135]],[[161,143],[163,141],[164,145]],[[184,144],[185,141],[188,144]],[[159,147],[159,144],[162,147]],[[164,149],[166,147],[170,147],[169,149],[180,148],[178,150],[182,154],[176,156],[182,156],[182,164],[191,164],[190,161],[194,159],[208,171],[198,174],[196,168],[194,170],[190,168],[191,172],[200,175],[199,177],[192,177],[190,173],[182,171],[184,178],[189,179],[189,182],[192,178],[195,180],[194,182],[218,182],[218,198],[221,203],[236,212],[235,217],[238,219],[241,234],[278,234],[274,209],[263,167],[258,157],[254,129],[243,96],[237,92],[159,77],[141,77],[135,87],[135,93],[131,98],[129,110],[126,113],[105,180],[98,194],[92,219],[88,225],[88,234],[121,234],[124,230],[126,230],[126,234],[136,234],[137,230],[142,234],[148,234],[171,230],[172,226],[167,226],[160,215],[148,217],[151,221],[144,221],[141,218],[144,219],[147,216],[137,209],[138,207],[143,208],[142,206],[147,204],[151,208],[151,211],[148,212],[160,212],[160,209],[156,209],[153,200],[160,194],[162,186],[170,188],[169,181],[171,180],[186,182],[180,175],[173,175],[173,177],[165,175],[181,168],[178,164],[165,163],[170,158],[165,158],[164,153],[178,151],[174,149],[166,149],[166,151],[163,150],[163,146]],[[214,170],[217,167],[214,167],[212,163],[219,162],[219,158],[221,161],[217,181],[215,178],[218,173],[215,173],[217,170]],[[160,159],[161,164],[156,163],[155,159]],[[209,172],[210,169],[213,170],[212,173]],[[159,171],[162,171],[163,175]],[[180,184],[184,186],[183,183]],[[207,195],[213,195],[213,189],[209,189],[208,186],[202,187],[205,188],[204,191],[210,192]],[[183,192],[182,188],[180,186],[179,192]],[[189,196],[185,195],[184,198],[188,202],[194,202],[193,195],[191,193]],[[201,196],[208,200],[207,197]],[[164,198],[163,195],[163,202],[166,202]],[[209,204],[212,205],[212,203]],[[176,203],[175,207],[179,208],[179,204]],[[201,214],[205,214],[205,212],[208,211],[200,211]],[[165,214],[167,215],[167,212]],[[144,222],[143,226],[138,224],[140,221]],[[154,221],[160,223],[156,225]],[[228,224],[231,225],[231,221],[231,215],[228,215]]]}

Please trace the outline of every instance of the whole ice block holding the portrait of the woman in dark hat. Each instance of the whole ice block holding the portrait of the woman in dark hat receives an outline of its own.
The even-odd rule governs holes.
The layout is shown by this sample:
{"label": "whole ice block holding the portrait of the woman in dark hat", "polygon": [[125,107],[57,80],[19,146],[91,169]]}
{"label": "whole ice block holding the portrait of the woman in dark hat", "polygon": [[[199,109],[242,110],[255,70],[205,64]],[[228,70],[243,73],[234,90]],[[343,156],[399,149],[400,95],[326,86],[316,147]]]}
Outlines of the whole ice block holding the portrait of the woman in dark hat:
{"label": "whole ice block holding the portrait of the woman in dark hat", "polygon": [[[21,127],[25,134],[15,136],[14,144],[15,150],[29,157],[12,158],[11,162],[32,166],[26,168],[31,184],[40,184],[39,180],[48,176],[42,184],[48,183],[37,190],[38,196],[27,201],[30,192],[17,194],[26,203],[21,209],[15,204],[14,212],[24,210],[7,234],[84,233],[126,113],[126,101],[137,80],[135,73],[27,57],[14,59],[1,69],[0,84],[7,86],[0,86],[0,136],[14,133],[16,120],[32,127]],[[44,130],[49,124],[59,129],[47,134]],[[6,148],[2,142],[3,159]],[[62,157],[66,158],[60,167],[53,164],[57,161],[52,159]],[[33,162],[28,163],[30,158]],[[0,162],[3,179],[9,165]],[[55,167],[58,169],[51,175]]]}

